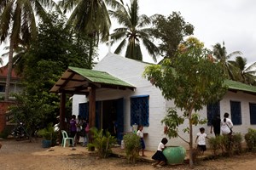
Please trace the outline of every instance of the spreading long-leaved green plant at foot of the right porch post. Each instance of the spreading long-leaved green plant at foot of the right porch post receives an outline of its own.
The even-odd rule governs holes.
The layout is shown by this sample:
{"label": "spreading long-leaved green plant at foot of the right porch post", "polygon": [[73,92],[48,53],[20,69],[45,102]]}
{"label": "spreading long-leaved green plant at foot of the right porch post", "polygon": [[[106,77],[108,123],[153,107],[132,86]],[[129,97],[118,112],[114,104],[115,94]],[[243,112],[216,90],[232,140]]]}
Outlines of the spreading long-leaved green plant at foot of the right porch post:
{"label": "spreading long-leaved green plant at foot of the right porch post", "polygon": [[90,128],[90,132],[93,134],[93,139],[88,147],[95,147],[99,157],[108,157],[112,153],[113,144],[116,144],[115,137],[108,131],[104,134],[103,129],[98,130],[96,127]]}

